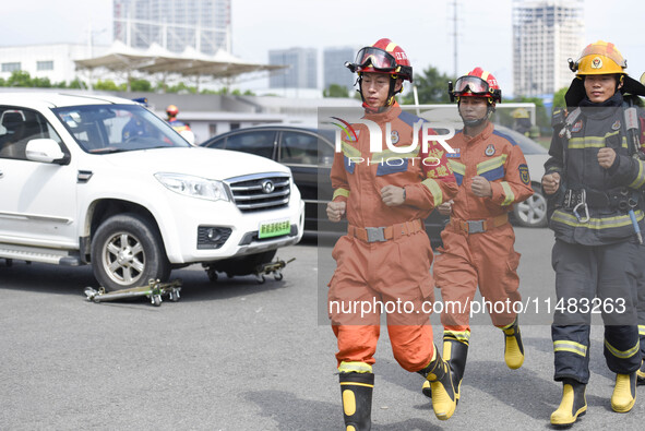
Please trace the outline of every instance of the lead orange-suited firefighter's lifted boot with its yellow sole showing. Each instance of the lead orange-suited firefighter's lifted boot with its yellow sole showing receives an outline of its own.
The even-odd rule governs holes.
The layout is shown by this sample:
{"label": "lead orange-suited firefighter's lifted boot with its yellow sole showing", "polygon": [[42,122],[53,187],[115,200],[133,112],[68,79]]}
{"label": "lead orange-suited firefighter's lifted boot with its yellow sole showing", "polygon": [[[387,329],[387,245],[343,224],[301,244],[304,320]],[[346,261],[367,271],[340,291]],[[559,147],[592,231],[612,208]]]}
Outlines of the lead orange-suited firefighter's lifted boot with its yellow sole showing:
{"label": "lead orange-suited firefighter's lifted boot with its yellow sole showing", "polygon": [[439,420],[447,420],[455,412],[457,398],[453,386],[452,374],[446,361],[441,359],[437,346],[435,358],[419,373],[430,382],[432,391],[432,409]]}

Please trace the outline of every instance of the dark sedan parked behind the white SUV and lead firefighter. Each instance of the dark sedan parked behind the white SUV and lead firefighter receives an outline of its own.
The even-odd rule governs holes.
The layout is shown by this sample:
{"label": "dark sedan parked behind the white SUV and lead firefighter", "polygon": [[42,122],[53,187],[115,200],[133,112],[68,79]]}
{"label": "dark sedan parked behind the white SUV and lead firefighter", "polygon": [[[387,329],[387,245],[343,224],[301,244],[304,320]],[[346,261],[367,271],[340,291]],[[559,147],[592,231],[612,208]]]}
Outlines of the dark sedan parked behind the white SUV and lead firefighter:
{"label": "dark sedan parked behind the white SUV and lead firefighter", "polygon": [[[347,230],[345,223],[331,223],[326,216],[333,189],[330,180],[334,160],[334,132],[315,128],[262,125],[238,129],[200,144],[210,148],[226,148],[272,158],[288,166],[304,201],[304,230],[338,232]],[[426,231],[432,246],[441,244],[441,230],[447,217],[434,211],[426,219]]]}

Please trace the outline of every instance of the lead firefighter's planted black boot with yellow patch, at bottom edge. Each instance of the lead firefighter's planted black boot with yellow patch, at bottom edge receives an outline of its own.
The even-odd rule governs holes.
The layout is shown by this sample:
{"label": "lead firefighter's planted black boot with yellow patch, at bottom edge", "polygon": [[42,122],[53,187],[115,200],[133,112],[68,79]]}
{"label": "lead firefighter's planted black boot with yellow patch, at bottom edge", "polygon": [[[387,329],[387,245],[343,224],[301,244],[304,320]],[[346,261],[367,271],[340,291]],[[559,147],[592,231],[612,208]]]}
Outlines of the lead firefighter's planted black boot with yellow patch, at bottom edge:
{"label": "lead firefighter's planted black boot with yellow patch, at bottom edge", "polygon": [[372,428],[374,374],[341,373],[339,381],[345,430],[369,431]]}

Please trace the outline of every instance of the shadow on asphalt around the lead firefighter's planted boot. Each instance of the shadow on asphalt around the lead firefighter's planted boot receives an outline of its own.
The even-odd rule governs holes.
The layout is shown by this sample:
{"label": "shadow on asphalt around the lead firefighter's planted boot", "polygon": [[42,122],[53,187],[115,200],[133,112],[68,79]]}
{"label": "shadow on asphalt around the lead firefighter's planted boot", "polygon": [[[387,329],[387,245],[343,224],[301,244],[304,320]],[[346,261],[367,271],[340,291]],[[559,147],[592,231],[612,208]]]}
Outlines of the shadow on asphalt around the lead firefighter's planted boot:
{"label": "shadow on asphalt around the lead firefighter's planted boot", "polygon": [[[261,416],[277,422],[278,430],[326,431],[343,429],[343,407],[339,393],[338,404],[302,399],[284,391],[247,392],[244,398],[262,409]],[[289,408],[285,408],[285,406]],[[387,424],[372,422],[372,430],[441,430],[441,427],[423,419],[414,418]]]}

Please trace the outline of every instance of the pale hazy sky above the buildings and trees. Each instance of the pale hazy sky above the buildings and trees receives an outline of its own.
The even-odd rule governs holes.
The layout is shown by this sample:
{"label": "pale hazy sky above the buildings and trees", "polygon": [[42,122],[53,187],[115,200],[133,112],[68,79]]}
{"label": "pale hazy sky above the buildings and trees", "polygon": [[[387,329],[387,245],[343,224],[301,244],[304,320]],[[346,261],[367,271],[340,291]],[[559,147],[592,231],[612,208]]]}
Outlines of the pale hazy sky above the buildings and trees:
{"label": "pale hazy sky above the buildings and trees", "polygon": [[[457,0],[457,74],[480,65],[495,75],[507,94],[513,84],[513,1]],[[0,46],[87,44],[89,28],[95,44],[111,43],[112,0],[2,3]],[[583,3],[585,44],[612,41],[628,59],[628,73],[638,79],[645,72],[645,40],[638,32],[645,23],[645,2]],[[318,48],[322,61],[325,47],[359,48],[389,37],[406,50],[416,72],[433,65],[452,75],[453,19],[453,0],[231,0],[232,53],[247,61],[267,62],[270,49]],[[322,86],[320,75],[319,83]],[[253,89],[267,83],[247,79],[238,85]]]}

